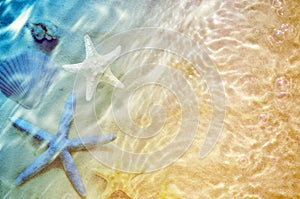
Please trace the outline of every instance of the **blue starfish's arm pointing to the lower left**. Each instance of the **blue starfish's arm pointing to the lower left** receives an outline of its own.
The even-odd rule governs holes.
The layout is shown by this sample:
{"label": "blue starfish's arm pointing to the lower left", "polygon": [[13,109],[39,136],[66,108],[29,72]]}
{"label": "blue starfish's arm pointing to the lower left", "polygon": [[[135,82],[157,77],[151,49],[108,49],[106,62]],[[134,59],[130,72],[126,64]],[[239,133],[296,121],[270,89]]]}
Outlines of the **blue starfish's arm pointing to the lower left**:
{"label": "blue starfish's arm pointing to the lower left", "polygon": [[22,173],[16,178],[14,184],[22,184],[30,176],[36,174],[43,169],[47,164],[51,163],[55,159],[55,151],[48,149],[38,158],[36,158]]}

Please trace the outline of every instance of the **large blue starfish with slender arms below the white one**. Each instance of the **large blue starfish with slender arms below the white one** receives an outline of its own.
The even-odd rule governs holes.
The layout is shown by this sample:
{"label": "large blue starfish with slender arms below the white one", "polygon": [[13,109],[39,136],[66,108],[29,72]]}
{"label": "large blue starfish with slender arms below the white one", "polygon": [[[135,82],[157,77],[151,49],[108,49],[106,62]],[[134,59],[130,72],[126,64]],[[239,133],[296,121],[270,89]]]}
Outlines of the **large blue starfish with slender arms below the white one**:
{"label": "large blue starfish with slender arms below the white one", "polygon": [[86,195],[83,182],[80,178],[78,170],[72,160],[72,156],[70,155],[68,149],[78,149],[84,148],[86,146],[95,145],[97,143],[107,143],[114,140],[116,137],[114,134],[103,134],[99,136],[75,138],[69,140],[68,135],[70,131],[70,125],[73,119],[74,106],[75,95],[72,93],[65,104],[64,112],[62,113],[56,136],[53,136],[36,126],[33,126],[25,120],[19,118],[10,118],[15,127],[27,132],[37,140],[44,142],[48,145],[48,149],[37,159],[35,159],[16,178],[16,180],[14,181],[16,185],[22,184],[26,179],[33,176],[42,168],[44,168],[47,164],[50,164],[52,161],[54,161],[59,155],[63,163],[64,169],[77,192],[82,196]]}

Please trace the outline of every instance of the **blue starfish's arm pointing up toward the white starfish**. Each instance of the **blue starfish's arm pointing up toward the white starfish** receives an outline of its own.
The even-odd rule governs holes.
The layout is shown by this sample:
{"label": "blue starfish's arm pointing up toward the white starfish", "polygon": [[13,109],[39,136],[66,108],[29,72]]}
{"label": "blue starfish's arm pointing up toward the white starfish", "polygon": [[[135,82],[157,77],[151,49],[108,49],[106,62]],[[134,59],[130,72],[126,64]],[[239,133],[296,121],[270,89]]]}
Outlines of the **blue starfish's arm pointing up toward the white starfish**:
{"label": "blue starfish's arm pointing up toward the white starfish", "polygon": [[63,136],[65,138],[68,137],[69,131],[70,131],[70,126],[71,122],[73,120],[73,114],[74,114],[74,108],[75,108],[75,94],[72,92],[65,104],[59,126],[58,126],[58,131],[57,131],[57,136]]}

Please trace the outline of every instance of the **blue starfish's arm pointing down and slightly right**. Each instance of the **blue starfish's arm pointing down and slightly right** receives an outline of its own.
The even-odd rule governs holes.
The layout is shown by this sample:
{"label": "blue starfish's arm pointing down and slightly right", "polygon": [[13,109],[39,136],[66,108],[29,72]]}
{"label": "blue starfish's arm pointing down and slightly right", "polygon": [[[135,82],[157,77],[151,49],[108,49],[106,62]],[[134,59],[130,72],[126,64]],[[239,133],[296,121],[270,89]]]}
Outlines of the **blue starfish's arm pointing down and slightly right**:
{"label": "blue starfish's arm pointing down and slightly right", "polygon": [[60,158],[74,188],[81,196],[85,196],[86,191],[71,154],[68,150],[64,149],[60,154]]}

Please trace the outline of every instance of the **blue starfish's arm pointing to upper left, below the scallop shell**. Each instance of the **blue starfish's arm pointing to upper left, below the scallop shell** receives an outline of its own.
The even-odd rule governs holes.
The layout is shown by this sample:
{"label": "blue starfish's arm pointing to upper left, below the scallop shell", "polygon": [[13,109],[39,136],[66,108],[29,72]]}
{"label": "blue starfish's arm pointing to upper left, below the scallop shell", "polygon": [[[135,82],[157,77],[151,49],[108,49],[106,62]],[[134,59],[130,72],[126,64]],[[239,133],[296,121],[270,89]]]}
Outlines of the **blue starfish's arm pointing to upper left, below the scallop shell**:
{"label": "blue starfish's arm pointing to upper left, below the scallop shell", "polygon": [[41,142],[49,143],[54,136],[47,133],[46,131],[33,126],[29,122],[22,120],[20,118],[10,117],[11,122],[14,124],[15,127],[20,129],[21,131],[25,131],[26,133],[32,135],[35,139]]}

